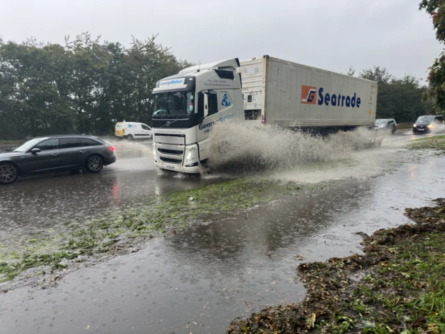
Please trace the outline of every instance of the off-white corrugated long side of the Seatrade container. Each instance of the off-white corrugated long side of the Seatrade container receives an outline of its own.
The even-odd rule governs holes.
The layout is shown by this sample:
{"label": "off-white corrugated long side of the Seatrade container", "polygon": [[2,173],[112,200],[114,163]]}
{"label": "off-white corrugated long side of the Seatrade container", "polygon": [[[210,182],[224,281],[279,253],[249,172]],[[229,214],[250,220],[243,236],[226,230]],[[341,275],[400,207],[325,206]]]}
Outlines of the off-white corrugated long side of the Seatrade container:
{"label": "off-white corrugated long side of the Seatrade container", "polygon": [[[266,61],[266,123],[288,127],[324,127],[341,125],[373,125],[377,84],[373,81],[350,77],[314,67],[282,61],[265,56]],[[241,74],[243,75],[243,74]],[[302,103],[303,86],[316,89],[314,104]],[[319,105],[319,88],[323,95],[345,95],[356,100],[359,108]],[[307,88],[306,88],[307,89]]]}

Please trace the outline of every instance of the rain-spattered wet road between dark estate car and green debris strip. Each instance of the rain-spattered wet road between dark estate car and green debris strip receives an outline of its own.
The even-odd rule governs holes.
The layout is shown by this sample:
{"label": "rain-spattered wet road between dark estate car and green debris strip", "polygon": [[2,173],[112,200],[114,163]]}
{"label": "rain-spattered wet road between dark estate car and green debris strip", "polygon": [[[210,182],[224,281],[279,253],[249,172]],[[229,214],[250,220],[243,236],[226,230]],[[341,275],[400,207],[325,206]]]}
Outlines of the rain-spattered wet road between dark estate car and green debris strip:
{"label": "rain-spattered wet road between dark estate car and green debris strip", "polygon": [[0,242],[32,230],[54,228],[118,209],[126,202],[171,191],[195,188],[218,177],[184,177],[161,172],[152,158],[120,159],[97,174],[57,173],[26,177],[0,186]]}

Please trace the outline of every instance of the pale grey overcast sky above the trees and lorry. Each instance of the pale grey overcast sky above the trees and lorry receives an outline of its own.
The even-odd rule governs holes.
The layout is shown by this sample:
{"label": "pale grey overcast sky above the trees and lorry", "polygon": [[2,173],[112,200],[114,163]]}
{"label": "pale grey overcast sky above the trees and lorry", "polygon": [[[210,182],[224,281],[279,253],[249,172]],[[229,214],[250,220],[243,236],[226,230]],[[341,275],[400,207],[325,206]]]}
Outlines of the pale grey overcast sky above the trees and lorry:
{"label": "pale grey overcast sky above the trees and lorry", "polygon": [[158,33],[203,63],[268,54],[346,72],[387,67],[425,78],[442,50],[420,0],[0,0],[0,36],[64,42],[84,31],[131,43]]}

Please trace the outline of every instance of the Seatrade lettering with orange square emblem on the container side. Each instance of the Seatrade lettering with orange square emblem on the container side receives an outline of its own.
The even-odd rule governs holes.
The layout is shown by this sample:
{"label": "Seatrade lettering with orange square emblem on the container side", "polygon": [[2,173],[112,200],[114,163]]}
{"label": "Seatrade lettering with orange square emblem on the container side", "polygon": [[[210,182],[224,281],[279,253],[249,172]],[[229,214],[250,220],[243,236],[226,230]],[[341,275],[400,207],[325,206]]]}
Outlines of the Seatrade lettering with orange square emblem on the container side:
{"label": "Seatrade lettering with orange square emblem on the container side", "polygon": [[[318,93],[317,93],[318,92]],[[359,108],[362,104],[360,97],[357,97],[357,93],[351,95],[330,94],[324,93],[324,88],[313,86],[301,86],[301,103],[302,104],[318,104],[321,106],[346,106],[346,108]]]}

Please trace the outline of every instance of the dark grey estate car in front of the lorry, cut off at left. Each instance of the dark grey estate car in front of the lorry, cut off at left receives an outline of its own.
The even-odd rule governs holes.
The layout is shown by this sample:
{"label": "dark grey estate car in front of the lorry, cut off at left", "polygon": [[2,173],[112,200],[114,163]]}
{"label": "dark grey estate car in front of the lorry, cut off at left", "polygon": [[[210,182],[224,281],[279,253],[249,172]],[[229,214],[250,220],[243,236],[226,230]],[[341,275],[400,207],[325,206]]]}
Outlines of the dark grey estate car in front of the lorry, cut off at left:
{"label": "dark grey estate car in front of the lorry, cut off at left", "polygon": [[33,138],[0,152],[0,184],[19,176],[86,168],[97,173],[116,161],[113,146],[95,136]]}

